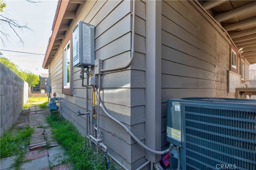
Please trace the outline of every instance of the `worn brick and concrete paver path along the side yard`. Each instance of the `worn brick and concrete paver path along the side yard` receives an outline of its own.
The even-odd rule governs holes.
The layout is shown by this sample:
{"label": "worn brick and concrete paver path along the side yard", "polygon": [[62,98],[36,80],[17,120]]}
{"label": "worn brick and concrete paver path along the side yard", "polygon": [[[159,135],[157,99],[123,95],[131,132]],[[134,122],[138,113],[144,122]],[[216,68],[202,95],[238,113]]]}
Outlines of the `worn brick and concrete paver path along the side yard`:
{"label": "worn brick and concrete paver path along the side yard", "polygon": [[[29,123],[30,127],[34,128],[34,132],[30,137],[30,152],[26,153],[21,169],[70,170],[70,164],[62,164],[67,158],[66,151],[52,138],[51,128],[40,107],[30,107]],[[16,156],[1,159],[0,170],[14,170],[15,168],[11,166],[15,159]]]}

